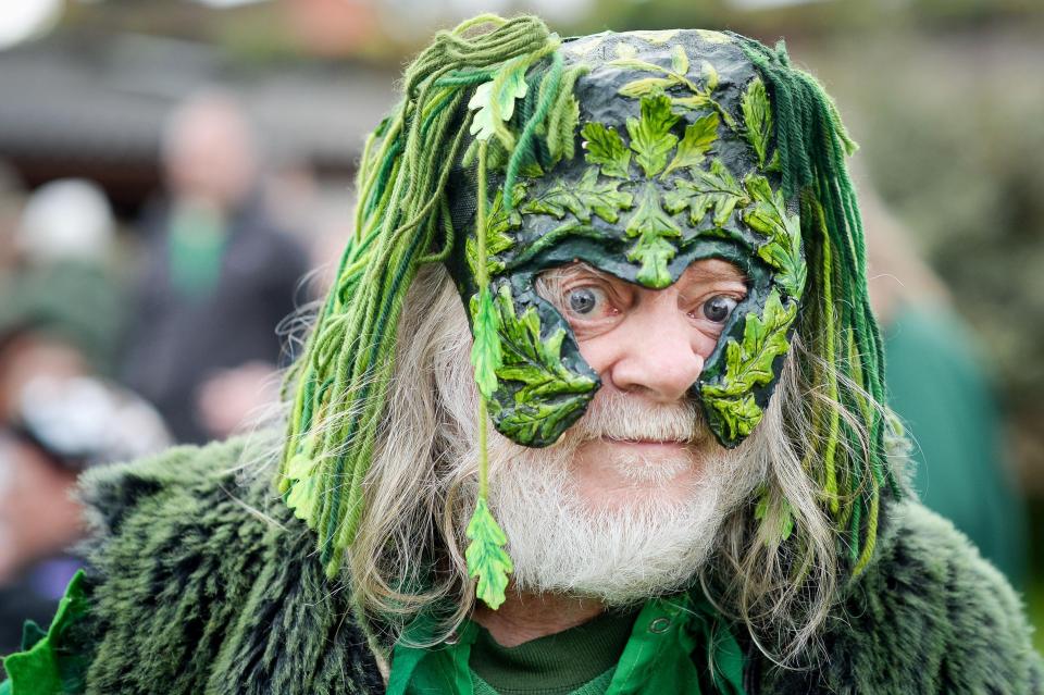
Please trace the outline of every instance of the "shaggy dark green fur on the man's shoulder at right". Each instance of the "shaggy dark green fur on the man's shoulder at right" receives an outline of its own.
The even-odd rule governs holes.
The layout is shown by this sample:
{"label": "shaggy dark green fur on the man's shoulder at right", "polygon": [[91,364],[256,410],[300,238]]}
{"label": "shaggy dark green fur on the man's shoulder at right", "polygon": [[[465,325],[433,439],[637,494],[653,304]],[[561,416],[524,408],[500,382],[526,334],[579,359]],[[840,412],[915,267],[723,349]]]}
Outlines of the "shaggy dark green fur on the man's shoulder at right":
{"label": "shaggy dark green fur on the man's shoulder at right", "polygon": [[829,620],[820,668],[766,668],[757,692],[1044,693],[1022,604],[954,525],[891,505],[874,560]]}

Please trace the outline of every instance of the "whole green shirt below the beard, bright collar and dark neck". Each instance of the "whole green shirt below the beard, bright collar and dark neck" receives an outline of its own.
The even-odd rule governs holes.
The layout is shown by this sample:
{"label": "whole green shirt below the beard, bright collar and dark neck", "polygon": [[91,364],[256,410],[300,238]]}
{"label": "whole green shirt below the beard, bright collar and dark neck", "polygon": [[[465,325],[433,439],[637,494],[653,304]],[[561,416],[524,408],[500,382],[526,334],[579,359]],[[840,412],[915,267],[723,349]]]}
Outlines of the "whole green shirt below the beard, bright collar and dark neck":
{"label": "whole green shirt below the beard, bright collar and dark neck", "polygon": [[743,695],[743,653],[706,599],[688,594],[651,598],[626,629],[632,617],[608,613],[513,648],[497,645],[471,621],[448,643],[409,646],[430,641],[432,623],[420,618],[393,651],[387,692]]}

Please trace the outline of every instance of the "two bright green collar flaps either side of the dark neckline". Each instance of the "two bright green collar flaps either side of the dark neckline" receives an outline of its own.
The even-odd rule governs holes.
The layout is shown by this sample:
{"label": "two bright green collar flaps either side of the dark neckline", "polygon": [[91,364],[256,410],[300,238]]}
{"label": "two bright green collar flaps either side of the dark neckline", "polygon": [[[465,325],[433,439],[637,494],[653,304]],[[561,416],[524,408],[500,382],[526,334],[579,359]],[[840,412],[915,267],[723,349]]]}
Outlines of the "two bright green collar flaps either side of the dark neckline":
{"label": "two bright green collar flaps either side of the dark neckline", "polygon": [[[388,695],[476,695],[487,692],[484,690],[486,687],[493,687],[485,681],[476,687],[476,679],[469,668],[478,625],[465,622],[458,633],[458,641],[452,645],[443,643],[432,648],[411,646],[430,641],[431,625],[424,619],[414,621],[403,640],[396,645],[391,656]],[[694,600],[688,594],[683,594],[646,601],[606,686],[592,690],[595,685],[589,682],[572,692],[599,695],[743,695],[743,670],[744,656],[739,645],[710,604],[706,599]],[[601,679],[601,675],[594,677],[592,681],[597,679]],[[560,693],[561,690],[531,692]]]}

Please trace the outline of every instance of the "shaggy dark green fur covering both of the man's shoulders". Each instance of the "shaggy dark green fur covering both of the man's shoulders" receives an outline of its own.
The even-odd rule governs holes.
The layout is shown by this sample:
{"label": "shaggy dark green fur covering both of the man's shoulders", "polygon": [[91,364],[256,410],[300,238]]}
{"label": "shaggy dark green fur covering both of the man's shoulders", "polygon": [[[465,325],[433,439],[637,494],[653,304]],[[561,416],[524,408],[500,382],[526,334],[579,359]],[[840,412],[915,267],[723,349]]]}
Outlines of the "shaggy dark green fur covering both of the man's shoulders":
{"label": "shaggy dark green fur covering both of the man's shoulders", "polygon": [[[228,472],[241,452],[238,440],[182,447],[87,476],[87,693],[383,692],[311,532],[269,481],[239,486]],[[748,692],[1041,693],[1044,666],[1000,574],[920,505],[888,517],[830,622],[824,666],[781,670],[749,647]]]}

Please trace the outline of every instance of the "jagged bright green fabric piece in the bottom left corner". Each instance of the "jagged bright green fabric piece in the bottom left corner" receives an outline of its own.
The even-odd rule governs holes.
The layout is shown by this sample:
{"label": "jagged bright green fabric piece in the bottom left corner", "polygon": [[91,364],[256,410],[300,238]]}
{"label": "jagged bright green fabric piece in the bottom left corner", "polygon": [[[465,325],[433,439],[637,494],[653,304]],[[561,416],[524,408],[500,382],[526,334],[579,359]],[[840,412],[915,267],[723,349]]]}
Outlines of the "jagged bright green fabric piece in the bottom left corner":
{"label": "jagged bright green fabric piece in the bottom left corner", "polygon": [[11,680],[4,684],[9,690],[0,693],[71,695],[83,691],[88,661],[76,625],[87,612],[84,578],[83,570],[73,576],[46,633],[36,623],[26,622],[22,651],[3,659]]}

